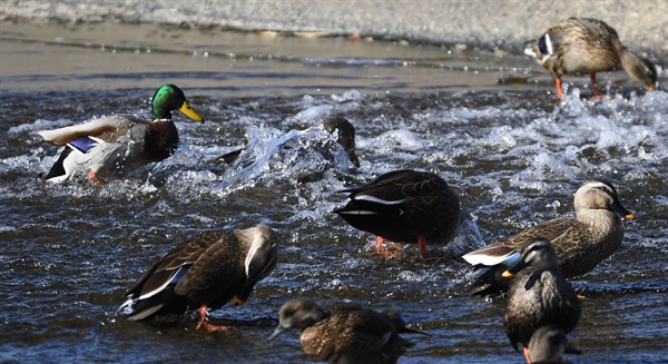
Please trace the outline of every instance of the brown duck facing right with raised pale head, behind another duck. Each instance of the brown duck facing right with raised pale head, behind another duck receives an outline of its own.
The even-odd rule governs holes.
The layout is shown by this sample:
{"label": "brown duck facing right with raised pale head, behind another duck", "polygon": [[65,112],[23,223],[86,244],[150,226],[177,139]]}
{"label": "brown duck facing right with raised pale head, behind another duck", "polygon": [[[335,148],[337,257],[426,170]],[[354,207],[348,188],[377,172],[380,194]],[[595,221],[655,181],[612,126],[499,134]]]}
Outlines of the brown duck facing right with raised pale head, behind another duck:
{"label": "brown duck facing right with raised pale head, behind another duck", "polygon": [[623,239],[623,222],[636,216],[619,201],[617,189],[606,180],[591,180],[576,191],[576,217],[557,217],[466,253],[464,260],[474,270],[484,270],[471,287],[472,294],[493,295],[507,289],[501,273],[520,257],[523,244],[544,237],[554,246],[559,267],[571,278],[592,270],[612,255]]}

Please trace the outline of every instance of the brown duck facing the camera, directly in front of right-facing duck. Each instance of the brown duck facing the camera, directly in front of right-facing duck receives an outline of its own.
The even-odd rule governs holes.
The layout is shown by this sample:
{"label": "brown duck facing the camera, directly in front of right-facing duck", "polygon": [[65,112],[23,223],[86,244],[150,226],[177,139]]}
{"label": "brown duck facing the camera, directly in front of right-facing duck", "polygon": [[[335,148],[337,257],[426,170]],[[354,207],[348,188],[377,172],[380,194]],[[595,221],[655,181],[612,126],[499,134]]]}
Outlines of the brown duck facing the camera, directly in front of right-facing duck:
{"label": "brown duck facing the camera, directly in front of right-facing duck", "polygon": [[524,348],[531,364],[529,342],[541,326],[554,325],[570,333],[580,321],[580,299],[566,282],[550,240],[539,237],[522,244],[520,259],[503,272],[510,277],[503,324],[512,346]]}

